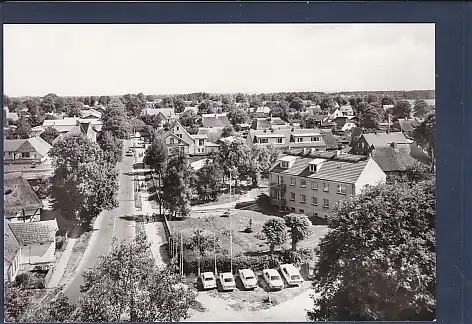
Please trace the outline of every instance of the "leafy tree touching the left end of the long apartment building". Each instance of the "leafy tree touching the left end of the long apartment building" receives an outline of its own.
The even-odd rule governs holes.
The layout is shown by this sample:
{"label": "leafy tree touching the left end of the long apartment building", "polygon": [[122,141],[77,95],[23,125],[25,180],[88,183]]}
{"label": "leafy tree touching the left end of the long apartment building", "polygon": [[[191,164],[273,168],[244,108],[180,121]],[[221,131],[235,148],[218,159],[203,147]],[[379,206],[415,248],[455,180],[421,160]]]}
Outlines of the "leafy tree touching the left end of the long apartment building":
{"label": "leafy tree touching the left end of the long apartment building", "polygon": [[279,156],[279,150],[271,144],[268,146],[253,146],[251,148],[250,175],[253,186],[258,186],[262,176],[267,177],[269,175],[270,168]]}

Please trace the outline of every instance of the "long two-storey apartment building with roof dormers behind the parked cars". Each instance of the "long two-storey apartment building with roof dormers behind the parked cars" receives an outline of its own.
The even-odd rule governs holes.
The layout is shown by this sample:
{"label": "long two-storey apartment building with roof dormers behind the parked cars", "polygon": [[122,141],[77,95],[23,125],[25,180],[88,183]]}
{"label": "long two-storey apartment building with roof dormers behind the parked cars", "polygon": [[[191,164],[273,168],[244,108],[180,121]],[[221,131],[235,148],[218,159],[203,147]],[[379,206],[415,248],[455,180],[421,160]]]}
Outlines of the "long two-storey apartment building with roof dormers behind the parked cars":
{"label": "long two-storey apartment building with roof dormers behind the parked cars", "polygon": [[338,201],[385,181],[386,174],[370,157],[310,152],[281,157],[269,172],[269,192],[279,208],[326,218]]}

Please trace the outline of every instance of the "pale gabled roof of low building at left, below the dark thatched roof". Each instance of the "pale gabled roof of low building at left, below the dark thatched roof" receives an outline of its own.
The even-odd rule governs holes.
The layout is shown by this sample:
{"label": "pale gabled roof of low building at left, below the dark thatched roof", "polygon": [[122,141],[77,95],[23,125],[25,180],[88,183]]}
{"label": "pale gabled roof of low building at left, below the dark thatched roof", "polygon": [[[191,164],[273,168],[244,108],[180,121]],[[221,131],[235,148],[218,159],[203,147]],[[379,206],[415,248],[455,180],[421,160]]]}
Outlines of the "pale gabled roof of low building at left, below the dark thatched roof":
{"label": "pale gabled roof of low building at left, below the dark thatched roof", "polygon": [[20,244],[54,242],[59,229],[55,219],[28,223],[10,223],[10,228]]}

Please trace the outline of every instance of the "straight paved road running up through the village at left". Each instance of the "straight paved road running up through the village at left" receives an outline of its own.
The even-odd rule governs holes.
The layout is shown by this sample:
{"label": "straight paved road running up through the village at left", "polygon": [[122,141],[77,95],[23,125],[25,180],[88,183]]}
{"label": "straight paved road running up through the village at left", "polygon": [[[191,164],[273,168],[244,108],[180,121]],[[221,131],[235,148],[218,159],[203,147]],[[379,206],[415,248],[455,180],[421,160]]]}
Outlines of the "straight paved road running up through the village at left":
{"label": "straight paved road running up through the village at left", "polygon": [[[124,142],[124,151],[127,151],[131,141]],[[94,267],[101,255],[106,254],[111,247],[112,239],[118,241],[133,238],[136,224],[122,218],[134,213],[133,178],[128,175],[133,170],[134,158],[123,156],[123,161],[117,164],[119,172],[119,206],[113,210],[103,211],[94,224],[94,232],[89,245],[77,267],[74,278],[65,287],[64,293],[71,302],[77,302],[80,297],[80,285],[83,284],[82,273]]]}

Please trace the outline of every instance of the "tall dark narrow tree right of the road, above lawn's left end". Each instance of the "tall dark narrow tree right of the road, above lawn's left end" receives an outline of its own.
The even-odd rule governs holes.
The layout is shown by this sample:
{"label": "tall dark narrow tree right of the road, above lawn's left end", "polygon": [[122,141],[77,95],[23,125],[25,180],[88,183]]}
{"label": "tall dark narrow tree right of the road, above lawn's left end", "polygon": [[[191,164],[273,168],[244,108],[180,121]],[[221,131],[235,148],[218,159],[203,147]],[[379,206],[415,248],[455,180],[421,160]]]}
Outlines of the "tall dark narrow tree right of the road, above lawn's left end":
{"label": "tall dark narrow tree right of the road, above lawn's left end", "polygon": [[162,181],[162,200],[171,218],[190,214],[192,177],[192,169],[185,155],[173,154],[169,157]]}

